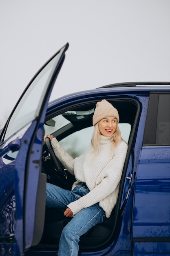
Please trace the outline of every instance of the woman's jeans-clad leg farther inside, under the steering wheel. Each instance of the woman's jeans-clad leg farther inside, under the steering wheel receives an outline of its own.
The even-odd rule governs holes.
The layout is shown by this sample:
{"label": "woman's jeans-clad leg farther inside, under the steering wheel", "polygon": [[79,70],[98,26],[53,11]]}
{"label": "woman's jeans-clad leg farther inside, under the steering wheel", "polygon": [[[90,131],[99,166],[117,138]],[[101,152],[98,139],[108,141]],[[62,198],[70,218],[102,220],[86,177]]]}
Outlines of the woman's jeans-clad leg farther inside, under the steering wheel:
{"label": "woman's jeans-clad leg farther inside, under the steering wheel", "polygon": [[46,206],[66,208],[70,202],[75,201],[71,191],[46,183]]}

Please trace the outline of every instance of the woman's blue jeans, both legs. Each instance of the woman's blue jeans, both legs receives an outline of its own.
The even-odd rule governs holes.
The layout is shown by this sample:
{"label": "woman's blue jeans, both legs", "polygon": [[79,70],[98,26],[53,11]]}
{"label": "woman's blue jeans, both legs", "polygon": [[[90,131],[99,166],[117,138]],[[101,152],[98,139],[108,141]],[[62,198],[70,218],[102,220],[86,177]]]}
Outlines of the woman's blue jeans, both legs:
{"label": "woman's blue jeans, both legs", "polygon": [[[66,209],[69,203],[78,200],[88,192],[89,189],[82,185],[78,185],[73,191],[69,191],[47,183],[46,206]],[[85,234],[91,227],[101,223],[105,216],[105,211],[99,206],[99,203],[79,211],[62,231],[58,256],[78,255],[80,236]]]}

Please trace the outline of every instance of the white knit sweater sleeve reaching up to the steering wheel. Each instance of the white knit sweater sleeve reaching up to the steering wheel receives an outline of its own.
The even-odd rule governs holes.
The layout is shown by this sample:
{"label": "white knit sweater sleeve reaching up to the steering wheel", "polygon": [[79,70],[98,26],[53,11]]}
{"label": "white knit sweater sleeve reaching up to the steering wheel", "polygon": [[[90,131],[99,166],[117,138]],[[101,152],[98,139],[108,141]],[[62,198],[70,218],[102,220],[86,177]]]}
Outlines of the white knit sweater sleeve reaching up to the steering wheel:
{"label": "white knit sweater sleeve reaching up to the steering wheel", "polygon": [[62,148],[56,138],[51,140],[51,145],[60,162],[72,175],[74,175],[74,158],[71,157],[64,148]]}

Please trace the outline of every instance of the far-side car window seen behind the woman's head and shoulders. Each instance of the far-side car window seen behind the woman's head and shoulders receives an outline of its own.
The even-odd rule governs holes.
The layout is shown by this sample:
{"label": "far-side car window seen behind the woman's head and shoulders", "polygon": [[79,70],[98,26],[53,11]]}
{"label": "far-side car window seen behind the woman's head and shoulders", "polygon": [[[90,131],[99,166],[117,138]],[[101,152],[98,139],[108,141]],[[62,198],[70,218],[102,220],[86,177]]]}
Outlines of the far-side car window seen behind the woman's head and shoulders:
{"label": "far-side car window seen behind the woman's head and shoulders", "polygon": [[[122,138],[128,143],[131,126],[128,123],[119,124]],[[60,145],[73,157],[78,157],[84,153],[91,143],[94,127],[90,126],[68,135],[60,140]]]}

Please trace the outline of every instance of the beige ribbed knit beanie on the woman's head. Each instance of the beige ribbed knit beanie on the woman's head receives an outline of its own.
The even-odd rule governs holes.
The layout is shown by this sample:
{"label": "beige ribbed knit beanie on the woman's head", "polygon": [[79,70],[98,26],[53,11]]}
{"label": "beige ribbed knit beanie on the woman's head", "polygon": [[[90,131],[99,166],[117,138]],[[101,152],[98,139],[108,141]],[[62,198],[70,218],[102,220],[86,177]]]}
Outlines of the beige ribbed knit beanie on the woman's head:
{"label": "beige ribbed knit beanie on the woman's head", "polygon": [[93,126],[105,117],[115,117],[119,123],[119,114],[116,108],[111,103],[103,99],[96,104],[95,112],[93,115]]}

